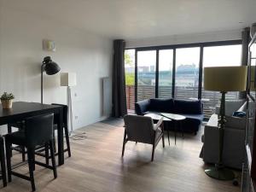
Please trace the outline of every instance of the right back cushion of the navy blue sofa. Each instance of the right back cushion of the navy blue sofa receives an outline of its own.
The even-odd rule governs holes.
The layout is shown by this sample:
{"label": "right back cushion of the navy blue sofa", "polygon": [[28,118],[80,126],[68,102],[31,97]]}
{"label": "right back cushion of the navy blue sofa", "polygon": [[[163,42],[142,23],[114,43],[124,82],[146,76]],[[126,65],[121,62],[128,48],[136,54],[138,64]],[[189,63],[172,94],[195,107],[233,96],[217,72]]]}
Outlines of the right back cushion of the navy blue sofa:
{"label": "right back cushion of the navy blue sofa", "polygon": [[201,114],[201,101],[174,100],[173,113],[181,114]]}

